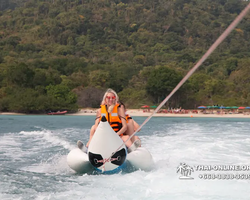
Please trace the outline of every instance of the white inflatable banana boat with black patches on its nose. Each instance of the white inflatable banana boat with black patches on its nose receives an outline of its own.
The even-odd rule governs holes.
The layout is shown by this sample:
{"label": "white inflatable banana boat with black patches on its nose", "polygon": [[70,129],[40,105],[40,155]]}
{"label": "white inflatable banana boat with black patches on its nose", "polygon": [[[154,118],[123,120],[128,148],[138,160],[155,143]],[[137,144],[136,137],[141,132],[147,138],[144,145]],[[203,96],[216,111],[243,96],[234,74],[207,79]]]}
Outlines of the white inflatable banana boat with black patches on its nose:
{"label": "white inflatable banana boat with black patches on its nose", "polygon": [[154,167],[150,152],[138,147],[127,153],[122,139],[111,128],[105,117],[102,117],[90,142],[88,152],[79,148],[71,150],[67,156],[71,169],[77,173],[89,173],[95,170],[102,173],[116,173],[131,168],[148,171]]}

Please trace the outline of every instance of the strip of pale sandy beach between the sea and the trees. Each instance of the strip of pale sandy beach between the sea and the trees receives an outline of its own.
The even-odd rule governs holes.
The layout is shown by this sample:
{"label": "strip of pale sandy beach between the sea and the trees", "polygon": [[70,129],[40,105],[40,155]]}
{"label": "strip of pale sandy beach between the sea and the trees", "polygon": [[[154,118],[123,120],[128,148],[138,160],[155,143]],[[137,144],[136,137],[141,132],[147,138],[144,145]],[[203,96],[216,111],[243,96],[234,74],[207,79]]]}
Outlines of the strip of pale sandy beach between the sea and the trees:
{"label": "strip of pale sandy beach between the sea and the trees", "polygon": [[[68,114],[68,115],[82,115],[82,116],[91,116],[96,115],[97,109],[81,109],[77,113],[74,114]],[[154,110],[150,110],[150,112],[144,112],[143,109],[128,109],[126,111],[127,114],[130,116],[140,116],[140,117],[147,117],[150,116]],[[250,118],[249,113],[223,113],[223,114],[204,114],[201,111],[198,111],[198,113],[192,113],[192,111],[189,111],[188,113],[156,113],[154,114],[154,117],[213,117],[213,118]]]}

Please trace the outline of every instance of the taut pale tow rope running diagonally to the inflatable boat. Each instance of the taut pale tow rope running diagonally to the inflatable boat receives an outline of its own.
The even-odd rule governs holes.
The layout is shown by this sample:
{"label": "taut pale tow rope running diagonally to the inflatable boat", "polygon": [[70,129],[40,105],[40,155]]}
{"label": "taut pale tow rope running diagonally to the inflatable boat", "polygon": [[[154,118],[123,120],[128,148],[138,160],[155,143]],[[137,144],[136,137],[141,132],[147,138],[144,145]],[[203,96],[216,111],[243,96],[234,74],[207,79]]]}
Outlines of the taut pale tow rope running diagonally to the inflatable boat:
{"label": "taut pale tow rope running diagonally to the inflatable boat", "polygon": [[123,142],[123,144],[110,157],[112,157],[127,141],[129,141],[153,117],[155,113],[157,113],[161,109],[161,107],[173,96],[173,94],[189,79],[189,77],[200,67],[200,65],[208,58],[208,56],[210,56],[210,54],[218,47],[218,45],[229,35],[229,33],[232,32],[232,30],[238,25],[238,23],[247,14],[249,9],[250,9],[250,3],[236,17],[236,19],[230,24],[230,26],[221,34],[221,36],[214,42],[214,44],[208,49],[208,51],[197,62],[197,64],[178,83],[178,85],[172,90],[172,92],[161,102],[161,104],[155,109],[155,111],[141,124],[141,126],[125,142]]}

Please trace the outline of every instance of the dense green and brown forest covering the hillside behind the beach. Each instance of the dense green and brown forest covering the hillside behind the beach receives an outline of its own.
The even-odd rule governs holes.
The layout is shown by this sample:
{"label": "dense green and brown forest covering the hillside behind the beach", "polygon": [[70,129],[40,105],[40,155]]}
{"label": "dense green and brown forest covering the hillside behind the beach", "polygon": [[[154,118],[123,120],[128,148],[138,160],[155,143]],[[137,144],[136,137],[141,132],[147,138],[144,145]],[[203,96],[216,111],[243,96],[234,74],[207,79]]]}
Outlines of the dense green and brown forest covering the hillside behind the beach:
{"label": "dense green and brown forest covering the hillside behind the beach", "polygon": [[[0,111],[161,102],[234,20],[241,0],[1,0]],[[250,105],[246,16],[169,106]]]}

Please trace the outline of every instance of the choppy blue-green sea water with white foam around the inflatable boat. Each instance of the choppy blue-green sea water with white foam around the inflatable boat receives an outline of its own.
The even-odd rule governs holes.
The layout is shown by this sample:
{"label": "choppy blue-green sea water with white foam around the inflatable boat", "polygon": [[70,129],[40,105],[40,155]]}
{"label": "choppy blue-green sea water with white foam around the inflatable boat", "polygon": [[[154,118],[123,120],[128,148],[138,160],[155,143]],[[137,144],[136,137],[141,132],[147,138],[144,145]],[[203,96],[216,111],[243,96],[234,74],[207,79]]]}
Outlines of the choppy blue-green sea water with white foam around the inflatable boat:
{"label": "choppy blue-green sea water with white foam around the inflatable boat", "polygon": [[[66,157],[78,139],[88,141],[93,123],[91,116],[0,116],[0,199],[250,199],[250,119],[153,117],[138,133],[153,170],[76,174]],[[184,163],[192,169],[186,177]],[[211,170],[223,166],[238,170]]]}

